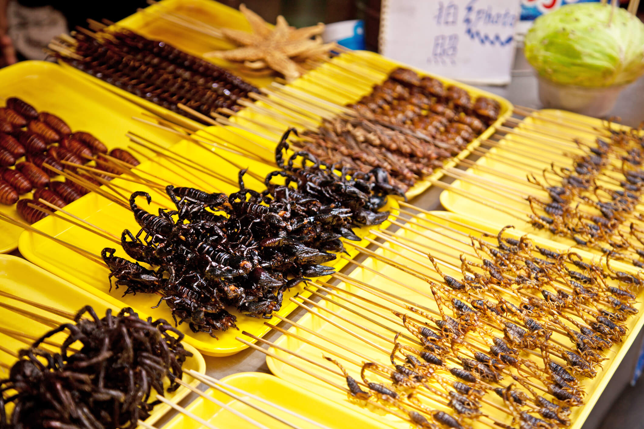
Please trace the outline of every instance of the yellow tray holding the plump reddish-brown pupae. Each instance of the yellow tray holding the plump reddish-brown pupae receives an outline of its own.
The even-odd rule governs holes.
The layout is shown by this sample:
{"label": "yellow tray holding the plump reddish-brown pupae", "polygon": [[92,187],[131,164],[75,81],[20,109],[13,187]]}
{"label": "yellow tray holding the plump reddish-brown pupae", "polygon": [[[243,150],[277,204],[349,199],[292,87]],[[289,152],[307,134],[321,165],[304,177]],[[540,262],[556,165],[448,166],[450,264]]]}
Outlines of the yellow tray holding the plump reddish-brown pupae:
{"label": "yellow tray holding the plump reddish-brown pupae", "polygon": [[[131,116],[141,116],[141,109],[86,80],[75,78],[51,62],[24,61],[0,69],[0,82],[0,98],[23,98],[38,111],[57,114],[73,131],[91,132],[109,149],[125,148],[128,131],[153,138],[164,146],[180,140],[175,134],[131,120]],[[31,198],[32,194],[23,197]],[[0,205],[0,211],[19,217],[15,205]],[[22,230],[0,221],[0,253],[17,247]]]}

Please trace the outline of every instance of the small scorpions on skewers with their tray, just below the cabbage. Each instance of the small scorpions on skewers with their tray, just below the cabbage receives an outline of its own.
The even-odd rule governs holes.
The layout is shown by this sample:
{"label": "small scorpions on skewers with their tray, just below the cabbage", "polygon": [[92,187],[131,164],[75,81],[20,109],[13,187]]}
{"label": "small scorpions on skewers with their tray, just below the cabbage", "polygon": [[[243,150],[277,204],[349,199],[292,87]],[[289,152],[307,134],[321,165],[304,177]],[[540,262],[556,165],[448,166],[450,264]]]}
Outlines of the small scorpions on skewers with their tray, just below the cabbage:
{"label": "small scorpions on skewers with their tray, just below the cabbage", "polygon": [[[497,151],[486,154],[495,163],[525,168],[527,177],[473,164],[484,177],[474,172],[455,177],[468,187],[488,186],[484,197],[472,196],[460,186],[444,188],[529,223],[536,230],[565,237],[575,246],[642,268],[644,141],[639,130],[611,123],[601,129],[539,117],[543,121],[539,127],[526,124],[513,132],[524,147],[522,151],[516,143],[506,142],[495,144]],[[553,134],[554,127],[558,136]],[[549,160],[539,160],[536,151],[549,154]],[[491,183],[498,186],[491,187]]]}

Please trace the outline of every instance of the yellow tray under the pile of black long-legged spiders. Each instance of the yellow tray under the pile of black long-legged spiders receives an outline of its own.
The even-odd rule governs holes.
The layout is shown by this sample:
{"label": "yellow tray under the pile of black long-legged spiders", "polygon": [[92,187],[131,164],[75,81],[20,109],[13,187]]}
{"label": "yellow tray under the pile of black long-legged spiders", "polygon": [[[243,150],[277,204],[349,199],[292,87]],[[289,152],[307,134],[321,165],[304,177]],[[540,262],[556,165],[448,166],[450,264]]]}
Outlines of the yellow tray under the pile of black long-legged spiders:
{"label": "yellow tray under the pile of black long-legged spiders", "polygon": [[[113,306],[109,302],[101,300],[90,293],[82,291],[81,289],[73,286],[72,284],[62,280],[51,273],[48,273],[42,268],[38,268],[32,263],[15,256],[0,255],[0,291],[11,293],[19,297],[25,297],[46,306],[52,306],[64,311],[76,312],[86,305],[92,306],[97,315],[104,315],[108,308],[113,311],[118,311],[122,306]],[[10,302],[16,307],[29,309],[33,311],[32,306],[15,302],[9,298],[1,298],[3,302]],[[55,315],[46,315],[48,318],[59,320],[62,323],[66,322],[63,318]],[[143,315],[139,315],[143,316]],[[26,334],[40,336],[50,329],[47,325],[36,322],[35,320],[26,316],[19,315],[5,308],[0,308],[0,325],[6,329],[13,329],[14,331],[22,331]],[[58,334],[60,335],[60,334]],[[56,337],[53,337],[57,341]],[[62,338],[62,337],[61,337]],[[62,341],[62,340],[61,340]],[[6,349],[18,351],[24,349],[28,345],[15,340],[6,334],[0,334],[0,344]],[[47,345],[43,345],[47,348]],[[200,354],[194,347],[185,344],[184,347],[187,351],[192,352],[193,356],[187,358],[184,363],[184,369],[192,369],[202,374],[205,373],[204,356]],[[53,351],[53,349],[52,349]],[[12,365],[15,362],[14,356],[0,351],[0,362],[6,365]],[[7,370],[0,367],[0,378],[8,376]],[[193,387],[199,385],[199,381],[184,374],[183,380]],[[179,387],[176,392],[166,392],[166,397],[173,403],[178,403],[184,399],[189,393],[189,389]],[[166,404],[155,406],[152,414],[146,420],[146,423],[154,424],[162,415],[166,414],[171,407]]]}

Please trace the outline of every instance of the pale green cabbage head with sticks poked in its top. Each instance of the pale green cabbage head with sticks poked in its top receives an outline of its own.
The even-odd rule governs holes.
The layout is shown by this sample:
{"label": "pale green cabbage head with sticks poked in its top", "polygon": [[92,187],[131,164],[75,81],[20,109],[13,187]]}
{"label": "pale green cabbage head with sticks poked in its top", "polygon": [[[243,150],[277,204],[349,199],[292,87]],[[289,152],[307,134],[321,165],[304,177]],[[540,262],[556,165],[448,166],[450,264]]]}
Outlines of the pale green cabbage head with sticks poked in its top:
{"label": "pale green cabbage head with sticks poked in its top", "polygon": [[562,6],[538,17],[526,35],[526,59],[557,84],[629,84],[644,72],[644,24],[601,3]]}

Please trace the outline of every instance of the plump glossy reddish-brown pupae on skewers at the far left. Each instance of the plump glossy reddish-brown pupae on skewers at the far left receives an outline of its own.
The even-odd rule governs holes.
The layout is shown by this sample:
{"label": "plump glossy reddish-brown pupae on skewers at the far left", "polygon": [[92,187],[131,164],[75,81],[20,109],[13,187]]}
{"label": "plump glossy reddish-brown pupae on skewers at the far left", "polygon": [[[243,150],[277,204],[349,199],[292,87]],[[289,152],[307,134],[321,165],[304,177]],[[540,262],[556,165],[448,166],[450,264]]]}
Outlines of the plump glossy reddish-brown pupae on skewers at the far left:
{"label": "plump glossy reddish-brown pupae on skewers at the far left", "polygon": [[[21,98],[7,98],[6,106],[0,108],[0,128],[0,204],[17,203],[17,212],[28,223],[46,215],[33,209],[33,205],[46,208],[37,200],[64,207],[90,192],[71,181],[53,180],[66,165],[87,165],[93,161],[94,173],[79,174],[100,187],[113,174],[122,173],[125,165],[133,167],[139,163],[124,149],[115,148],[108,154],[106,145],[89,132],[72,132],[64,120],[53,113],[38,112]],[[23,157],[24,161],[19,161]],[[123,165],[113,168],[109,160],[122,161]],[[30,192],[32,199],[21,199]]]}

